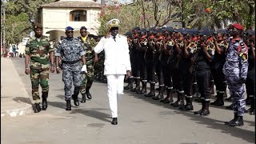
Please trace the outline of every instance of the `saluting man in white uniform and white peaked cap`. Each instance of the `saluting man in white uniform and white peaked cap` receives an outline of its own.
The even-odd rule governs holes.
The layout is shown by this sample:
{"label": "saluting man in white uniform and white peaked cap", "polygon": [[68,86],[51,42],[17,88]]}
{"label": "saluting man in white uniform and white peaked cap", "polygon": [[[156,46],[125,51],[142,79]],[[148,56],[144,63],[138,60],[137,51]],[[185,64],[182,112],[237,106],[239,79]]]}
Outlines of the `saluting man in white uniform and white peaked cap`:
{"label": "saluting man in white uniform and white peaked cap", "polygon": [[130,76],[130,55],[127,38],[118,34],[119,20],[106,23],[108,32],[95,46],[94,52],[105,51],[104,75],[107,78],[107,96],[110,102],[112,124],[118,124],[118,98],[123,94],[125,74]]}

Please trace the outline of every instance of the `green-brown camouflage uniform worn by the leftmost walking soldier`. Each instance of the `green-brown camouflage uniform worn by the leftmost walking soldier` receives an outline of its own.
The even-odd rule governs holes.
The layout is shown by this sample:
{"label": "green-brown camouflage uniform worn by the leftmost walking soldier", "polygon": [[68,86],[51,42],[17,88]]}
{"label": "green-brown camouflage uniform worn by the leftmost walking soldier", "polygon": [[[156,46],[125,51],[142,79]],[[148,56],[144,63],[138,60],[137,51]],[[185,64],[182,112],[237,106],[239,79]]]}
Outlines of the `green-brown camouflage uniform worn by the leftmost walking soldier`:
{"label": "green-brown camouflage uniform worn by the leftmost walking soldier", "polygon": [[35,37],[26,43],[25,53],[30,55],[30,80],[32,84],[32,96],[35,103],[40,103],[38,86],[42,87],[42,98],[48,97],[49,92],[49,52],[54,51],[50,46],[49,38],[42,36],[40,42]]}

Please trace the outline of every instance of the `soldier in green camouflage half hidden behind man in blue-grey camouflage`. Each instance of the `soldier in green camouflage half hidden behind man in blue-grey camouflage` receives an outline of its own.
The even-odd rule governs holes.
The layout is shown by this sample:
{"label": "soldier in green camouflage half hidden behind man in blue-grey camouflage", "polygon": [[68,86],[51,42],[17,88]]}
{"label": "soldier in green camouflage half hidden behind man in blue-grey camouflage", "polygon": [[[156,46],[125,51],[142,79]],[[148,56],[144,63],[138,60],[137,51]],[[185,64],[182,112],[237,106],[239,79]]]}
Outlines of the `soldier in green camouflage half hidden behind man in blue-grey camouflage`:
{"label": "soldier in green camouflage half hidden behind man in blue-grey camouflage", "polygon": [[86,27],[82,26],[80,29],[81,37],[78,37],[80,42],[84,45],[86,51],[86,66],[87,74],[82,73],[82,85],[80,92],[82,93],[82,103],[86,102],[86,97],[91,99],[90,87],[94,82],[94,62],[98,62],[98,54],[94,54],[94,46],[96,41],[92,37],[88,37]]}

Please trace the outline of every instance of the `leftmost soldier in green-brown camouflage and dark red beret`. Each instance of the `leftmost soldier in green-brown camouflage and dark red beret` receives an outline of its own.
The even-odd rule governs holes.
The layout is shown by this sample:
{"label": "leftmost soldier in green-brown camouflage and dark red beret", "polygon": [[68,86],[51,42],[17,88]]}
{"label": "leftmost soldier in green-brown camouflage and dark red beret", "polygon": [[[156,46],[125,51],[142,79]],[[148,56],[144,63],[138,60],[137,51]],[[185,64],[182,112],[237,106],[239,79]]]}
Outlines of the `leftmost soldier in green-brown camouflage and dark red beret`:
{"label": "leftmost soldier in green-brown camouflage and dark red beret", "polygon": [[[49,69],[54,73],[54,49],[50,46],[49,38],[42,35],[42,25],[34,25],[35,36],[26,43],[25,64],[26,74],[30,74],[32,84],[32,96],[34,100],[34,113],[41,111],[40,97],[38,93],[39,83],[42,87],[42,110],[46,110],[49,92]],[[50,62],[49,62],[49,55]],[[30,67],[29,67],[30,63]],[[49,66],[51,64],[51,67]]]}

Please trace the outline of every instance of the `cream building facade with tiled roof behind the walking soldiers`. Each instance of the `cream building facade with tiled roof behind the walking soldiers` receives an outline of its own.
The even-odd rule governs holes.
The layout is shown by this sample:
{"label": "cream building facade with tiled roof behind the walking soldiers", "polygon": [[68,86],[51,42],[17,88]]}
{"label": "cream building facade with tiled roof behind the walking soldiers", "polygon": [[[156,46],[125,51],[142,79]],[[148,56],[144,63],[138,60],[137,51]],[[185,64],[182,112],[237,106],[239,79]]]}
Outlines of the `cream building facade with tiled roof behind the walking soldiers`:
{"label": "cream building facade with tiled roof behind the walking soldiers", "polygon": [[81,26],[86,26],[90,34],[98,34],[98,14],[100,2],[93,0],[60,0],[39,7],[37,22],[43,26],[43,34],[50,40],[59,40],[66,36],[66,26],[74,28],[74,37],[78,37]]}

